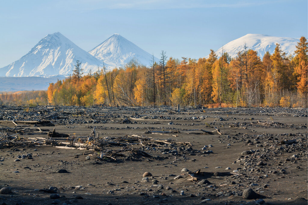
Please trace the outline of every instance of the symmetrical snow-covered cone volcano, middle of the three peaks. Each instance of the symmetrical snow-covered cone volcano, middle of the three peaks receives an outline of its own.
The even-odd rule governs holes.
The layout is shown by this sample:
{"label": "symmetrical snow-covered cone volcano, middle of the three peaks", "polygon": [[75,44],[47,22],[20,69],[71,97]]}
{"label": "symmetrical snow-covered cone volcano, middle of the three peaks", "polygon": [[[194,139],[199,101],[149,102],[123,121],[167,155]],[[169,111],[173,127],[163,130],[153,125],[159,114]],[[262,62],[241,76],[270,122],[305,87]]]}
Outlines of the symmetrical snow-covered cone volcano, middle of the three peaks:
{"label": "symmetrical snow-covered cone volcano, middle of the three peaks", "polygon": [[[133,58],[145,66],[149,66],[152,61],[151,54],[119,34],[113,34],[107,40],[90,50],[89,53],[114,67],[123,67]],[[157,63],[159,62],[155,57],[154,60]]]}

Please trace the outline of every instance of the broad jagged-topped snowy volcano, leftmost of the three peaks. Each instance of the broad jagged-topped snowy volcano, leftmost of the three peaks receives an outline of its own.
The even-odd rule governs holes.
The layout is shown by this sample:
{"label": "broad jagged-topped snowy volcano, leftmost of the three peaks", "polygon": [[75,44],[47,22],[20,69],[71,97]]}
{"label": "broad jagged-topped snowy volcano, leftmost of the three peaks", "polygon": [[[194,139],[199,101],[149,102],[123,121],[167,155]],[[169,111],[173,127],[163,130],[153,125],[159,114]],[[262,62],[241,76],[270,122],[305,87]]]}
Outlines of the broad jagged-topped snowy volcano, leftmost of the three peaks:
{"label": "broad jagged-topped snowy volcano, leftmost of the three peaks", "polygon": [[0,68],[0,76],[52,76],[71,74],[76,60],[82,62],[84,73],[97,70],[102,62],[57,32],[48,34],[26,55]]}

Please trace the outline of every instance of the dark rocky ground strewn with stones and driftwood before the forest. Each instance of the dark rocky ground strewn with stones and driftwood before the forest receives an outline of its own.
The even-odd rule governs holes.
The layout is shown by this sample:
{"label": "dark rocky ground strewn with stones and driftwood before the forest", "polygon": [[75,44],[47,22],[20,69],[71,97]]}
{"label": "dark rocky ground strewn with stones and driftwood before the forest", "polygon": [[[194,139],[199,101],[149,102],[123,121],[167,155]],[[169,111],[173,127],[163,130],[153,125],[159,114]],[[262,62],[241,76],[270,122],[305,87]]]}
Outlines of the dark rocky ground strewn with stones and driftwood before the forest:
{"label": "dark rocky ground strewn with stones and driftwood before the forest", "polygon": [[0,108],[1,204],[307,204],[307,109]]}

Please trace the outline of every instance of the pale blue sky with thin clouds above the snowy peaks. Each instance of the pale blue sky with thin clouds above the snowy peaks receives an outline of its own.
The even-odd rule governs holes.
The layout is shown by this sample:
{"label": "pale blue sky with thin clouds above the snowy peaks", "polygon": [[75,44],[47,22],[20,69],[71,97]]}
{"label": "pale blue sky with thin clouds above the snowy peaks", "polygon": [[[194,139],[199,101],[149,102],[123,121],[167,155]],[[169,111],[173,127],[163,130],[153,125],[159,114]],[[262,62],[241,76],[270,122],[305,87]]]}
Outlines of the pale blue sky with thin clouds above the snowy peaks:
{"label": "pale blue sky with thin clouds above the snowy peaks", "polygon": [[60,32],[89,51],[120,34],[160,58],[200,58],[246,34],[307,37],[307,0],[0,0],[0,68]]}

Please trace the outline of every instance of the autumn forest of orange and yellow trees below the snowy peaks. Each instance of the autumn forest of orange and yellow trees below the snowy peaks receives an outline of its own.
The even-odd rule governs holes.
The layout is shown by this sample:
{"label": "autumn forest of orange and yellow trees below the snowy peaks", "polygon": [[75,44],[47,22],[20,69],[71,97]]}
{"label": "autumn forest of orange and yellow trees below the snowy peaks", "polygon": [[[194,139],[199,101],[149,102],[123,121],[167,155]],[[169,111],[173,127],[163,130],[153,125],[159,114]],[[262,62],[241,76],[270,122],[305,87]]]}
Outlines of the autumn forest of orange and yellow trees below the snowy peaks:
{"label": "autumn forest of orange and yellow trees below the snowy peaks", "polygon": [[[231,58],[227,52],[209,58],[176,59],[161,52],[160,61],[143,66],[132,59],[123,68],[73,74],[51,83],[47,91],[0,94],[0,103],[25,106],[159,106],[307,107],[307,39],[301,37],[294,55],[279,44],[260,58],[246,49]],[[221,57],[217,57],[221,56]]]}

